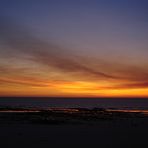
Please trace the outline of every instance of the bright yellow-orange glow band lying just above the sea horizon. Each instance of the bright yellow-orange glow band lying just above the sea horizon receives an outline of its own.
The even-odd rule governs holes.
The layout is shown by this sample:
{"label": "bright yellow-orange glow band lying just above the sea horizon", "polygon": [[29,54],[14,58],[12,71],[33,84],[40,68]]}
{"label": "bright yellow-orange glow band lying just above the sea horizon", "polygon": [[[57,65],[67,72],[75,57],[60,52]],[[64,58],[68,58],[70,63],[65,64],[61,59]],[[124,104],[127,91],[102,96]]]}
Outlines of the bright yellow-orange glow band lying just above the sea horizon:
{"label": "bright yellow-orange glow band lying just above the sea horizon", "polygon": [[[27,84],[30,83],[28,82]],[[113,84],[107,82],[99,84],[98,82],[83,81],[50,81],[36,86],[26,85],[26,83],[9,84],[0,88],[0,95],[45,97],[148,97],[148,88],[114,88],[112,85]]]}

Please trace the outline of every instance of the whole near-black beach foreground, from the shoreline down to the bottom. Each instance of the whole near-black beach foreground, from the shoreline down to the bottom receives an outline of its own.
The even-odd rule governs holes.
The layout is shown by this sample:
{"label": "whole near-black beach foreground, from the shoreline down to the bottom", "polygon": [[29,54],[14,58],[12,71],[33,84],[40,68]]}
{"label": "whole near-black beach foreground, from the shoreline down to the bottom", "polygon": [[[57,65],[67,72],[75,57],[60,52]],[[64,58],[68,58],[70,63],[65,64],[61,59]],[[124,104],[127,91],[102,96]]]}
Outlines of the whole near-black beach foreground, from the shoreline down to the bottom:
{"label": "whole near-black beach foreground, from the shoreline down to the bottom", "polygon": [[0,147],[148,147],[146,115],[75,111],[0,112]]}

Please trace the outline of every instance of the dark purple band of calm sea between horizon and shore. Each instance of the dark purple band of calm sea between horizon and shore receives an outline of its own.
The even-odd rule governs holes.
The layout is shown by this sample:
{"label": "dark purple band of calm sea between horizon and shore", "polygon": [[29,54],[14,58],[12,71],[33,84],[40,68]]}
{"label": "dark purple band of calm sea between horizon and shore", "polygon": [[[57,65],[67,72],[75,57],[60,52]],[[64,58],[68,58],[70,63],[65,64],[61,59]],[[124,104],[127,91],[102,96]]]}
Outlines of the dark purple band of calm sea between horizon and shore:
{"label": "dark purple band of calm sea between horizon and shore", "polygon": [[148,109],[148,99],[0,97],[0,106]]}

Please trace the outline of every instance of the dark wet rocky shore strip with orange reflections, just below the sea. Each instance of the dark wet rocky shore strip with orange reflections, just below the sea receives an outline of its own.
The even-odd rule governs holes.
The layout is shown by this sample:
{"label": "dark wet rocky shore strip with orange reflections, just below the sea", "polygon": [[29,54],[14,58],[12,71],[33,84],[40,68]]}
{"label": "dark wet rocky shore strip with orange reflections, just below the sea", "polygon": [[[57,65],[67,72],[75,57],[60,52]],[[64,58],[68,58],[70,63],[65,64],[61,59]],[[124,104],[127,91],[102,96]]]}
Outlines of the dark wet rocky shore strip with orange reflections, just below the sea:
{"label": "dark wet rocky shore strip with orange reflections, just below the sea", "polygon": [[0,108],[1,123],[98,124],[100,121],[146,119],[148,110],[104,108]]}

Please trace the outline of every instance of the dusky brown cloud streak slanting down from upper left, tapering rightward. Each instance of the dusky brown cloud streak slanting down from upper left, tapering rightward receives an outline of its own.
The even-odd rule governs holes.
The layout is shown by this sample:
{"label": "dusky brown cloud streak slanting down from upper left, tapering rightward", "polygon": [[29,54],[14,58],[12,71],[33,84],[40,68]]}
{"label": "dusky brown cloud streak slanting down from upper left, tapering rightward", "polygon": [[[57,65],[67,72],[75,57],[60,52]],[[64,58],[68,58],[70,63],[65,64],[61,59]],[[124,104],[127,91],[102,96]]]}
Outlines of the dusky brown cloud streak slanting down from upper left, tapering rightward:
{"label": "dusky brown cloud streak slanting down from upper left, tapering rightward", "polygon": [[[74,54],[53,43],[47,43],[32,35],[25,27],[13,21],[1,19],[0,38],[9,46],[11,52],[15,54],[27,54],[29,60],[42,64],[43,66],[53,67],[62,72],[81,73],[101,78],[114,78],[110,74],[90,67],[89,63],[83,63]],[[9,53],[8,53],[9,54]]]}

